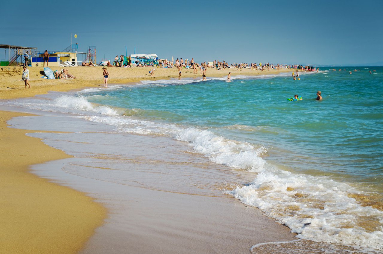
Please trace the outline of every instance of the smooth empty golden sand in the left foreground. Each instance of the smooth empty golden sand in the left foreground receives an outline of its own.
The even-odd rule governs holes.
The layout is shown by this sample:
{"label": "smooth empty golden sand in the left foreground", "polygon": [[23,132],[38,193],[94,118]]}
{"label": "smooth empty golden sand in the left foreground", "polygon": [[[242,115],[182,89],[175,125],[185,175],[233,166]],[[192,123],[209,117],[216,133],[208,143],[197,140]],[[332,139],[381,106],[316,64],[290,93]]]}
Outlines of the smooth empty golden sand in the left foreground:
{"label": "smooth empty golden sand in the left foreground", "polygon": [[0,111],[0,253],[77,253],[106,209],[84,193],[29,173],[28,166],[69,155],[7,128],[28,114]]}

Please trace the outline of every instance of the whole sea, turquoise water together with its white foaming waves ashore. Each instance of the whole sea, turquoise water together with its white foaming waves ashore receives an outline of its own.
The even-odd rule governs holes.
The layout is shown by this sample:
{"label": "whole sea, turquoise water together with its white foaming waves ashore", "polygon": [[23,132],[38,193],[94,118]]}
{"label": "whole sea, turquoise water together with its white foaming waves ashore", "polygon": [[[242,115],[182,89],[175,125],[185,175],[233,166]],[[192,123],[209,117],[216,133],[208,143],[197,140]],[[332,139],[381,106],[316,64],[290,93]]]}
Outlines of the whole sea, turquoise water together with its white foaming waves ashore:
{"label": "whole sea, turquoise water together with its white foaming waves ashore", "polygon": [[[289,101],[295,94],[302,100]],[[214,169],[206,176],[206,167],[193,168],[200,173],[197,187],[216,174],[219,192],[296,233],[298,241],[267,243],[268,251],[274,245],[274,253],[288,253],[308,242],[319,246],[310,253],[383,251],[383,67],[321,67],[300,72],[300,80],[291,72],[239,75],[231,82],[142,80],[0,104],[69,114],[115,137],[177,140],[192,156],[246,172],[249,181],[235,182]],[[115,147],[123,142],[113,139]],[[115,173],[124,178],[123,171]],[[172,182],[164,185],[172,189]],[[268,253],[264,246],[250,251]]]}

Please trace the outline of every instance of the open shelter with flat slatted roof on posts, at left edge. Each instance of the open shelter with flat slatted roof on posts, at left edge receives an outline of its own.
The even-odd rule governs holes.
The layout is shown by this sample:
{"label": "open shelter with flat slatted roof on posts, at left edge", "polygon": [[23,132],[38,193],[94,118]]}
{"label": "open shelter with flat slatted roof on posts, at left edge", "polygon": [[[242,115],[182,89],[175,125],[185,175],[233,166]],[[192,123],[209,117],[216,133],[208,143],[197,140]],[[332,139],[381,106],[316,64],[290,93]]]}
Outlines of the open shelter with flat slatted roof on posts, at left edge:
{"label": "open shelter with flat slatted roof on posts, at left edge", "polygon": [[[4,49],[4,61],[1,61],[0,57],[0,67],[2,71],[10,74],[11,72],[20,73],[21,66],[24,65],[25,60],[23,55],[28,51],[29,57],[37,57],[37,47],[23,47],[23,46],[14,46],[7,44],[0,44],[0,49]],[[8,51],[8,61],[7,61],[7,51]]]}

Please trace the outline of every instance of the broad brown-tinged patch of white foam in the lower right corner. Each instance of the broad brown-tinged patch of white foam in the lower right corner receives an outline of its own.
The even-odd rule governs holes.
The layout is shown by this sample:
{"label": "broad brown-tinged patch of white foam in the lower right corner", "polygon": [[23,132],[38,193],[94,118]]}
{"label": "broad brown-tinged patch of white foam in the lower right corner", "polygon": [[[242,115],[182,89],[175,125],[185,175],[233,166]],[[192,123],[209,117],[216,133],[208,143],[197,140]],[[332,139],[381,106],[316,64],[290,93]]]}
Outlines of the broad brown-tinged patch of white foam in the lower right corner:
{"label": "broad brown-tinged patch of white foam in the lower right corner", "polygon": [[360,192],[329,177],[268,169],[227,193],[260,208],[297,238],[383,250],[383,212],[364,207],[351,195]]}

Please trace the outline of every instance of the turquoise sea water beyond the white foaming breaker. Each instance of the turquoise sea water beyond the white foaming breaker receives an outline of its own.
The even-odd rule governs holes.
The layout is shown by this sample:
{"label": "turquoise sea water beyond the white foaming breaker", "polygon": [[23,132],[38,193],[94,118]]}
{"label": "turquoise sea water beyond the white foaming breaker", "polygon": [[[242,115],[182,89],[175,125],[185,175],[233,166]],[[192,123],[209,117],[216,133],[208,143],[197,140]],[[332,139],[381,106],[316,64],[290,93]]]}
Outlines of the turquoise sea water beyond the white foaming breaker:
{"label": "turquoise sea water beyond the white foaming breaker", "polygon": [[[237,77],[231,83],[147,81],[87,96],[93,103],[124,108],[127,115],[262,145],[268,162],[288,170],[335,174],[375,189],[383,181],[383,69],[338,70],[303,74],[301,80],[289,73]],[[322,101],[315,99],[317,90]],[[286,100],[294,94],[303,100]]]}

